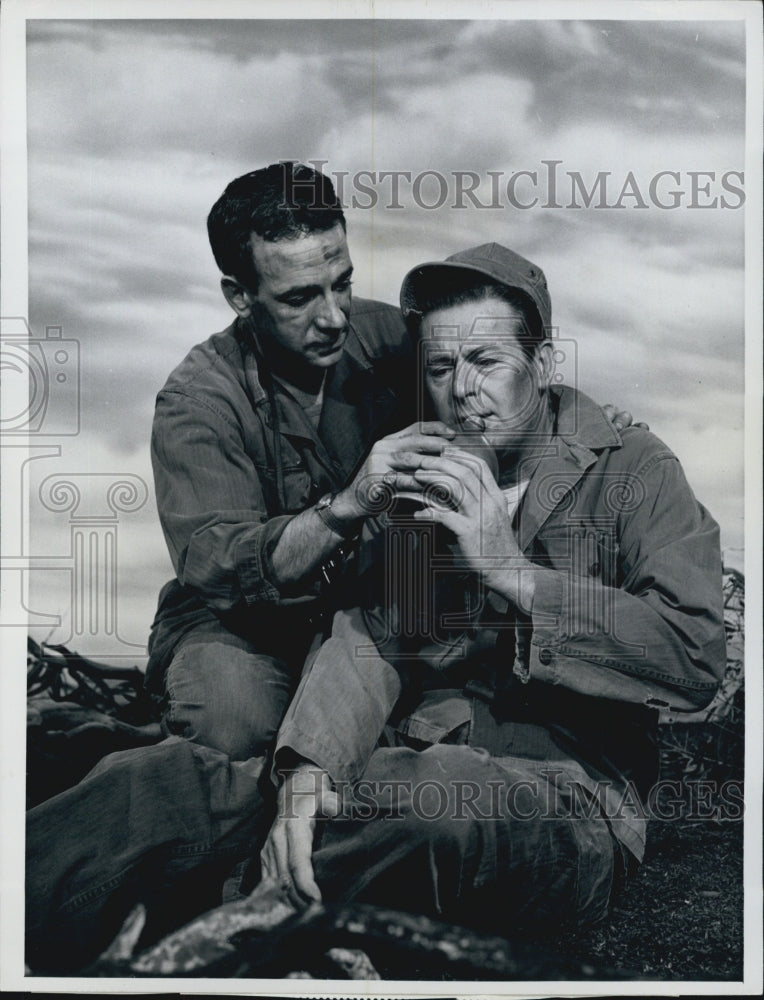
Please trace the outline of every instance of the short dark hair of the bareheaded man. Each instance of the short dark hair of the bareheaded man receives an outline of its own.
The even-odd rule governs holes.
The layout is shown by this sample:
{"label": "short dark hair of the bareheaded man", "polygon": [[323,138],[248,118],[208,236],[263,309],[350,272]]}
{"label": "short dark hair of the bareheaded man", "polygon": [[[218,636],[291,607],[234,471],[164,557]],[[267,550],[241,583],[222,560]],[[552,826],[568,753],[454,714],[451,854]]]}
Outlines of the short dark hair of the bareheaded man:
{"label": "short dark hair of the bareheaded man", "polygon": [[345,215],[332,182],[304,163],[281,161],[231,181],[212,206],[207,233],[223,274],[252,291],[258,276],[252,258],[252,233],[270,242],[321,232]]}

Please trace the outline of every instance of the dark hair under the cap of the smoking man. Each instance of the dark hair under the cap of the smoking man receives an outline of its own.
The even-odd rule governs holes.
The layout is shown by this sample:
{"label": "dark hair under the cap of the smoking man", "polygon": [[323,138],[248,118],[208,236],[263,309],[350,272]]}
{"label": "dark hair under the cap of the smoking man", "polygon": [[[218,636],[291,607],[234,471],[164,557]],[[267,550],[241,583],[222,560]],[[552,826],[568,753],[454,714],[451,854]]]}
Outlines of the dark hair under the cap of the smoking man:
{"label": "dark hair under the cap of the smoking man", "polygon": [[523,352],[532,357],[539,344],[546,340],[544,324],[533,300],[519,288],[510,288],[475,271],[456,268],[446,274],[438,269],[428,284],[420,286],[418,292],[419,309],[409,313],[409,332],[419,336],[422,320],[437,309],[448,309],[464,302],[481,302],[487,298],[501,299],[520,314],[521,329],[518,341]]}

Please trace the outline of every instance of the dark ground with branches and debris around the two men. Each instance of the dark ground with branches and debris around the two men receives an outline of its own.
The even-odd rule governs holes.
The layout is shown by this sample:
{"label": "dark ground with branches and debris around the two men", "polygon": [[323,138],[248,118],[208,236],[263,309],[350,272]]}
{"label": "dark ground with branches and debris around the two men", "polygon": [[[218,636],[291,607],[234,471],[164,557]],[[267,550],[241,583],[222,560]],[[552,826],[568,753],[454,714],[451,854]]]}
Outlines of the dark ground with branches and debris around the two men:
{"label": "dark ground with branches and debris around the two men", "polygon": [[[661,775],[677,783],[680,808],[672,819],[650,820],[646,858],[605,923],[518,943],[361,905],[297,914],[277,888],[264,886],[142,950],[146,913],[137,907],[85,974],[742,979],[745,593],[734,570],[725,571],[724,603],[728,659],[719,694],[704,712],[662,720]],[[162,738],[137,667],[108,667],[30,639],[27,682],[29,807],[76,784],[105,754]],[[693,801],[705,811],[688,809]]]}

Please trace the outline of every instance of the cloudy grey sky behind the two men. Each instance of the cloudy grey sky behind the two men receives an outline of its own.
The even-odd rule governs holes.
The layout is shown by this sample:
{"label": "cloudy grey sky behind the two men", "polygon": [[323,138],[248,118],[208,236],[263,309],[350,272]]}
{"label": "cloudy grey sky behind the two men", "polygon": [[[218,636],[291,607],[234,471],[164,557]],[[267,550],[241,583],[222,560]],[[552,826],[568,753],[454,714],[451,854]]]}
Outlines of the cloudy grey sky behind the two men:
{"label": "cloudy grey sky behind the two men", "polygon": [[[34,502],[32,554],[49,565],[30,603],[62,619],[38,637],[142,661],[171,573],[150,488],[154,397],[232,317],[211,204],[283,158],[347,172],[358,295],[395,302],[409,267],[487,241],[541,264],[566,378],[648,421],[741,565],[744,53],[739,21],[28,22],[29,319],[37,337],[60,326],[81,364],[80,432],[55,437],[67,418],[51,391],[41,440],[61,454],[30,463],[29,488],[149,484],[119,514],[116,628],[68,589],[70,521],[103,497]],[[399,207],[382,171],[410,174]],[[486,207],[455,207],[460,171]],[[590,207],[571,207],[572,174],[597,192]]]}

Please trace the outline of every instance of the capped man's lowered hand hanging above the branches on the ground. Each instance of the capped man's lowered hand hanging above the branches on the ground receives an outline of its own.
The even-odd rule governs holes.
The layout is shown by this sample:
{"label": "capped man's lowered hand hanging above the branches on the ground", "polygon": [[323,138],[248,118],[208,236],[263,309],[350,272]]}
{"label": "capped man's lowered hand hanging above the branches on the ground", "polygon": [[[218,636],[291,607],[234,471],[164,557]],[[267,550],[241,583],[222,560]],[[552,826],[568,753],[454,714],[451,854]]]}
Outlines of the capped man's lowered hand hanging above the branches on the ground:
{"label": "capped man's lowered hand hanging above the branches on the ground", "polygon": [[340,812],[326,771],[305,762],[290,771],[278,794],[278,812],[260,855],[263,880],[278,882],[290,902],[303,909],[320,902],[313,875],[313,832],[318,816]]}

